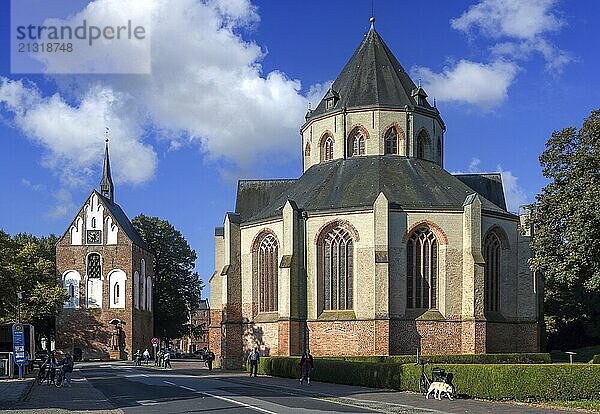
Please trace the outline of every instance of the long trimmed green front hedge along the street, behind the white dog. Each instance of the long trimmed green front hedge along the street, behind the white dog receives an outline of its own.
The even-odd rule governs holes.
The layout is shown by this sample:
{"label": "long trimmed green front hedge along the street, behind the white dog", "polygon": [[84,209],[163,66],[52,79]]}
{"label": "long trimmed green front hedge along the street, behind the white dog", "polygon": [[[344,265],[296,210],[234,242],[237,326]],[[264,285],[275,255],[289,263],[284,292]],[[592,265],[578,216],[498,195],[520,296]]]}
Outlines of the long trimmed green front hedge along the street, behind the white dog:
{"label": "long trimmed green front hedge along the street, behind the white dog", "polygon": [[[299,378],[298,357],[262,358],[260,372]],[[453,376],[455,392],[489,400],[551,401],[600,399],[600,366],[591,364],[436,364]],[[431,374],[432,365],[427,365]],[[398,362],[316,358],[317,381],[418,391],[421,368]]]}

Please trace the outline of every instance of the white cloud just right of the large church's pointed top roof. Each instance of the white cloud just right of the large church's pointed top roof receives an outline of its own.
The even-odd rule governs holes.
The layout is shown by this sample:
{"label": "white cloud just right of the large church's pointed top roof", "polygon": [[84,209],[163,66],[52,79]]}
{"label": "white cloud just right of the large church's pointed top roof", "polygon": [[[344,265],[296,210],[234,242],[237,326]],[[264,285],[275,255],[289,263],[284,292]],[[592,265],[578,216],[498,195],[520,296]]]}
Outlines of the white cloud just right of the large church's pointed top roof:
{"label": "white cloud just right of the large church's pointed top roof", "polygon": [[500,105],[508,96],[508,88],[518,71],[515,63],[497,60],[490,64],[461,60],[447,66],[442,73],[426,67],[412,70],[421,78],[430,96],[440,101],[466,102],[490,109]]}

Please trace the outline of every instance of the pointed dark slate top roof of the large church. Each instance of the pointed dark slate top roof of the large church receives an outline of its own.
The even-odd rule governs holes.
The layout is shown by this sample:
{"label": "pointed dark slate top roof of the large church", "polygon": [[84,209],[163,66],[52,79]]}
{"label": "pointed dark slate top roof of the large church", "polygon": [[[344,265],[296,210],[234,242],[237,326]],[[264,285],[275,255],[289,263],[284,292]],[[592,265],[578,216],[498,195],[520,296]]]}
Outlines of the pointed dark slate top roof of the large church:
{"label": "pointed dark slate top roof of the large church", "polygon": [[[417,86],[373,27],[358,46],[332,85],[339,94],[336,105],[327,109],[325,97],[309,118],[339,111],[341,108],[390,107],[417,105],[412,97]],[[434,108],[425,101],[424,108]]]}

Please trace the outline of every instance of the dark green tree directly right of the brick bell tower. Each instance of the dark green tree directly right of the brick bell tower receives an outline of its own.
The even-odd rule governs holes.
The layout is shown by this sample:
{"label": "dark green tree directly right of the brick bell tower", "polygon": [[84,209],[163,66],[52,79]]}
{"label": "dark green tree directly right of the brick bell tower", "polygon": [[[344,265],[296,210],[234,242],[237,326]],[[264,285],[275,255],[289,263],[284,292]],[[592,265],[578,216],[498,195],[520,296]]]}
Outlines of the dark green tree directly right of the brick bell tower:
{"label": "dark green tree directly right of the brick bell tower", "polygon": [[154,333],[165,340],[189,330],[190,312],[200,305],[202,281],[194,272],[196,252],[168,221],[139,215],[132,220],[154,253]]}

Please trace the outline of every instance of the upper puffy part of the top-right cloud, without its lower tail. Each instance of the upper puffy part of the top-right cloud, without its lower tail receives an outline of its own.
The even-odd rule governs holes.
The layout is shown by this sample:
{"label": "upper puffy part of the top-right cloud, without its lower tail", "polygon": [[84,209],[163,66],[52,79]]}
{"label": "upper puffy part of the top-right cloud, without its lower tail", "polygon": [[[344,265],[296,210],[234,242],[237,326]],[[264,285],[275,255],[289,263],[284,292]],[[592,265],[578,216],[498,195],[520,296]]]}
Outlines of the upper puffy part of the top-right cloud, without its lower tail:
{"label": "upper puffy part of the top-right cloud, without its lower tail", "polygon": [[454,29],[479,29],[491,38],[533,40],[546,32],[560,30],[564,20],[552,12],[555,0],[483,0],[450,21]]}

